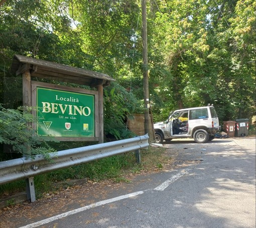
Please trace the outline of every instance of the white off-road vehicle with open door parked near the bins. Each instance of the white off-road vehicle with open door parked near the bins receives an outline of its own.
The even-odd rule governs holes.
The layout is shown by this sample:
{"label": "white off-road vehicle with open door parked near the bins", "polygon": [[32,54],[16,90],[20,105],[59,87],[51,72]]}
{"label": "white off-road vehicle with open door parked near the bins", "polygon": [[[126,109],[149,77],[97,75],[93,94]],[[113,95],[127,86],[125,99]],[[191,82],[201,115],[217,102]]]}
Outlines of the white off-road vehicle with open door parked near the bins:
{"label": "white off-road vehicle with open door parked near the bins", "polygon": [[167,121],[154,124],[156,143],[174,138],[194,138],[197,143],[214,139],[220,130],[213,106],[180,109],[170,113]]}

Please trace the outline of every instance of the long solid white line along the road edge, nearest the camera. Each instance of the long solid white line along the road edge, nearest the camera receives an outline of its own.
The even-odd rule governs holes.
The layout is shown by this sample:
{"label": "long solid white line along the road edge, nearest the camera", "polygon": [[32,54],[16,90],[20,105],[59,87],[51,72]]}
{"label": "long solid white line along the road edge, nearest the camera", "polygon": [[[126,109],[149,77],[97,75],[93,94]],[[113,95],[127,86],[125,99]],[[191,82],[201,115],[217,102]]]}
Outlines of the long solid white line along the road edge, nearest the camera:
{"label": "long solid white line along the road edge, nearest the camera", "polygon": [[70,210],[68,212],[65,212],[65,213],[62,213],[62,214],[58,214],[56,216],[49,217],[49,218],[46,218],[44,220],[41,220],[41,221],[38,221],[38,222],[34,222],[34,223],[31,223],[31,224],[28,224],[28,225],[25,225],[25,226],[22,226],[20,228],[33,228],[33,227],[37,227],[39,225],[47,224],[47,223],[49,223],[51,221],[54,221],[54,220],[57,220],[57,219],[60,219],[60,218],[63,218],[63,217],[67,217],[69,215],[76,214],[76,213],[88,210],[90,208],[94,208],[96,206],[101,206],[101,205],[104,205],[104,204],[107,204],[107,203],[119,201],[121,199],[137,196],[137,195],[143,194],[144,192],[145,191],[137,191],[137,192],[133,192],[133,193],[126,194],[126,195],[121,195],[121,196],[118,196],[118,197],[115,197],[115,198],[102,200],[102,201],[99,201],[99,202],[96,202],[96,203],[93,203],[93,204],[90,204],[90,205],[87,205],[87,206],[84,206],[84,207],[81,207],[81,208],[78,208],[78,209]]}

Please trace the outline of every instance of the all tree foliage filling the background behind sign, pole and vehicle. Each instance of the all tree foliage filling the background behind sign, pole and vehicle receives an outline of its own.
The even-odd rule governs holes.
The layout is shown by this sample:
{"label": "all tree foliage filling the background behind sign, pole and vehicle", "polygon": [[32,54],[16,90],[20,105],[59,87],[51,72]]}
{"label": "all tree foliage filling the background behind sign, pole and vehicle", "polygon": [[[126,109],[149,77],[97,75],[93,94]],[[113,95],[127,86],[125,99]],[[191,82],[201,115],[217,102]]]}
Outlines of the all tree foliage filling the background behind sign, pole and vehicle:
{"label": "all tree foliage filling the background behind sign, pole and vehicle", "polygon": [[[0,8],[0,102],[21,105],[19,83],[7,77],[13,55],[22,54],[107,73],[141,106],[140,4],[6,1]],[[208,103],[221,120],[249,118],[255,103],[255,1],[150,1],[147,12],[154,120],[167,118],[172,109]],[[106,128],[121,138],[106,117]]]}

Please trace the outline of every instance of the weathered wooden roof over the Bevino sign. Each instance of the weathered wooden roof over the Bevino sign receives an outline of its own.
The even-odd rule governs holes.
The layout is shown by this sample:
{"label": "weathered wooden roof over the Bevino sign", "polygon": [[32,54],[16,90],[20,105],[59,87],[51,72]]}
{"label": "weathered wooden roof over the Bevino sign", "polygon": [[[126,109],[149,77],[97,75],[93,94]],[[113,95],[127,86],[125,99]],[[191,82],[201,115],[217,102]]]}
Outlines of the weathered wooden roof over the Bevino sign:
{"label": "weathered wooden roof over the Bevino sign", "polygon": [[11,66],[11,73],[18,76],[26,70],[30,70],[32,77],[76,83],[90,87],[108,86],[111,81],[114,81],[113,78],[103,73],[15,55]]}

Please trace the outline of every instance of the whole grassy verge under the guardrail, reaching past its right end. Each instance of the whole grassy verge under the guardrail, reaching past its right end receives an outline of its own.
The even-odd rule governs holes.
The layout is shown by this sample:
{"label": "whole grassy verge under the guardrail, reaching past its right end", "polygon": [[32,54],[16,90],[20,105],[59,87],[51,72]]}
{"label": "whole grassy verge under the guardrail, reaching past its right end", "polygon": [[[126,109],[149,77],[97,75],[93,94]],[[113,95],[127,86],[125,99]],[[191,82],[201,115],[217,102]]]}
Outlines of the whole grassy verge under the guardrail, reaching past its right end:
{"label": "whole grassy verge under the guardrail, reaching past its right end", "polygon": [[[129,182],[130,173],[162,169],[163,165],[170,161],[169,157],[165,157],[164,151],[164,148],[141,150],[141,164],[136,163],[135,153],[129,152],[37,175],[34,178],[36,197],[72,186],[70,179],[87,178],[92,181],[110,179],[114,182]],[[25,189],[24,180],[3,184],[0,185],[0,197],[25,191]]]}

